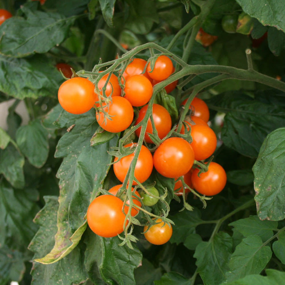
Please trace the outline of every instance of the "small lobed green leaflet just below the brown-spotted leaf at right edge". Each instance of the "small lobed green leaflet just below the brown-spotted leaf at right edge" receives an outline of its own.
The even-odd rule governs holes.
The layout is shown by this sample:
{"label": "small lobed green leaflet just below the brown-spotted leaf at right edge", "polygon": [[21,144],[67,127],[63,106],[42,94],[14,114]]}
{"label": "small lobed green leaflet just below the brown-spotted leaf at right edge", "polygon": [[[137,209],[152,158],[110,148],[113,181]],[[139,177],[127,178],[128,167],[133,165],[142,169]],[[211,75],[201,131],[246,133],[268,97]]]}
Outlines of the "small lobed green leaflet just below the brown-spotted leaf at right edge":
{"label": "small lobed green leaflet just below the brown-spotted leaf at right edge", "polygon": [[273,236],[273,230],[278,227],[275,221],[261,221],[257,216],[239,219],[229,224],[235,227],[244,237],[258,235],[263,242],[266,242]]}

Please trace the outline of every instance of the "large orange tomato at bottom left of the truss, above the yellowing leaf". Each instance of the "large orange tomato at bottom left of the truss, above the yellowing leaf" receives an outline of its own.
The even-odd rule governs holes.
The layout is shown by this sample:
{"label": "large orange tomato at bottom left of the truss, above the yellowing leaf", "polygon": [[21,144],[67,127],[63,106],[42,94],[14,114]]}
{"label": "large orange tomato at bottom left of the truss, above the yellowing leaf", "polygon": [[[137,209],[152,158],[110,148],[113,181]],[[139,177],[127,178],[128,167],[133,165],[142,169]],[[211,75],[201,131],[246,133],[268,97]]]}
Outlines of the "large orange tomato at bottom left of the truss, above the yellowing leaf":
{"label": "large orange tomato at bottom left of the truss, above the yellowing leaf", "polygon": [[115,237],[123,231],[123,201],[113,195],[95,198],[87,209],[87,223],[100,237]]}

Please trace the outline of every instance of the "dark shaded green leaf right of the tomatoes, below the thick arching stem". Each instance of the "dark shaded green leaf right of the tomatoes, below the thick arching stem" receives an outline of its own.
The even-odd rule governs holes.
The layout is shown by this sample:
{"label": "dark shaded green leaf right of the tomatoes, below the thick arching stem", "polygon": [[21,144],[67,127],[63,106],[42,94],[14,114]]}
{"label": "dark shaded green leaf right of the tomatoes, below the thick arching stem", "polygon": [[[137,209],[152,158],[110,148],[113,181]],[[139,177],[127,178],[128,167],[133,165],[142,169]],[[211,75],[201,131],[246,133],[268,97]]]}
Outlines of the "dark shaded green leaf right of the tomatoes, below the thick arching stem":
{"label": "dark shaded green leaf right of the tomatoes, below the thick arching stem", "polygon": [[210,109],[226,113],[221,139],[244,156],[257,157],[266,135],[285,125],[283,108],[239,92],[225,92],[205,101]]}

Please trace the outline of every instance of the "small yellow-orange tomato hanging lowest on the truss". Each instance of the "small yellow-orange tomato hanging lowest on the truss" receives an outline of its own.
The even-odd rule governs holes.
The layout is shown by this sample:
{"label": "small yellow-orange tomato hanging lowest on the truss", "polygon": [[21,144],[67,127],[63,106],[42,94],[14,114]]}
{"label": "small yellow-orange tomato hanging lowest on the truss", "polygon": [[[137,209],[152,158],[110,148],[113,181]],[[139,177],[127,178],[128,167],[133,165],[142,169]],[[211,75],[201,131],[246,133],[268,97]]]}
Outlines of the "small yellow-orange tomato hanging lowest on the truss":
{"label": "small yellow-orange tomato hanging lowest on the truss", "polygon": [[[158,224],[152,225],[146,233],[144,233],[144,237],[146,240],[153,245],[163,245],[167,243],[172,236],[172,226],[167,225],[162,221],[162,219],[157,219],[156,222]],[[147,226],[144,226],[144,231],[146,231]]]}

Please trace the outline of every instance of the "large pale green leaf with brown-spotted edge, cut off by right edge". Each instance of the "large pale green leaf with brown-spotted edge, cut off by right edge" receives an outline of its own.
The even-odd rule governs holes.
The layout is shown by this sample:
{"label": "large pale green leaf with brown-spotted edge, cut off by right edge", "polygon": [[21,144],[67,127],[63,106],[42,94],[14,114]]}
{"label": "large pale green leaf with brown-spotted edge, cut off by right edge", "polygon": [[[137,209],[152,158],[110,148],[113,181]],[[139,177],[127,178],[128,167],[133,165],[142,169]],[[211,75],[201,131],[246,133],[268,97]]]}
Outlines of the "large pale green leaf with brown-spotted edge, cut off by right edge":
{"label": "large pale green leaf with brown-spotted edge, cut off by right edge", "polygon": [[283,220],[285,217],[285,128],[276,129],[264,140],[253,166],[255,202],[262,220]]}

